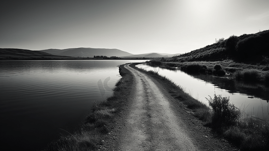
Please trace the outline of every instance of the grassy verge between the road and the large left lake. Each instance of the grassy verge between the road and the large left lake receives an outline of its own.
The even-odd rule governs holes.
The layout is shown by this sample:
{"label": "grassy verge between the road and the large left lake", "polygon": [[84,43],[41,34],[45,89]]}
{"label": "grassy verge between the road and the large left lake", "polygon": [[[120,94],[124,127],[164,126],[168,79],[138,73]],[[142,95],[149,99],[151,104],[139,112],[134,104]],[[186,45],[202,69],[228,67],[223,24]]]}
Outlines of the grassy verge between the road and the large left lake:
{"label": "grassy verge between the road and the large left lake", "polygon": [[102,103],[96,103],[91,112],[85,118],[80,128],[60,139],[48,144],[44,150],[98,150],[106,137],[109,137],[111,129],[117,122],[122,107],[131,93],[130,86],[133,83],[132,74],[123,66],[119,67],[122,78],[113,90],[113,96]]}

